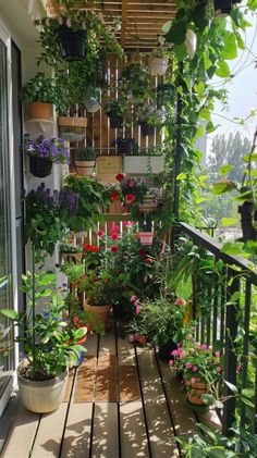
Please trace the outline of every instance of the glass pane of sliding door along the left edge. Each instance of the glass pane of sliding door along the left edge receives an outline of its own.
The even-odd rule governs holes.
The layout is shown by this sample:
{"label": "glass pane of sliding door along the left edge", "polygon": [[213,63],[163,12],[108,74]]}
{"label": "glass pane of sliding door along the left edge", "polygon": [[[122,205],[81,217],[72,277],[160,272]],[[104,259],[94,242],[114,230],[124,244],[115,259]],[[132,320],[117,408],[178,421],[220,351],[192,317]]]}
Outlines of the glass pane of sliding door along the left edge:
{"label": "glass pane of sliding door along the left edge", "polygon": [[[12,308],[11,222],[9,195],[7,47],[0,39],[0,309]],[[13,369],[13,335],[0,314],[0,414],[1,397]]]}

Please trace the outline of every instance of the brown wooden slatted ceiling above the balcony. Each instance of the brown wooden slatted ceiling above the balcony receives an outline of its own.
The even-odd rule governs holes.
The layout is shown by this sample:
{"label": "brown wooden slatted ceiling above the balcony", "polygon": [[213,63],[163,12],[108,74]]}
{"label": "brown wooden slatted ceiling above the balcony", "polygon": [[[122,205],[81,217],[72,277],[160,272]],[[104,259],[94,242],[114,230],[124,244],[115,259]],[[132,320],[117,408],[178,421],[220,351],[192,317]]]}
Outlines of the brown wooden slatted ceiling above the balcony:
{"label": "brown wooden slatted ceiling above the balcony", "polygon": [[[47,8],[51,15],[63,12],[56,0],[48,0]],[[120,30],[115,30],[115,36],[126,50],[155,48],[158,38],[163,35],[163,24],[175,15],[175,4],[172,0],[105,0],[100,4],[82,1],[77,8],[102,11],[106,25],[111,27],[113,17],[121,17],[122,26]]]}

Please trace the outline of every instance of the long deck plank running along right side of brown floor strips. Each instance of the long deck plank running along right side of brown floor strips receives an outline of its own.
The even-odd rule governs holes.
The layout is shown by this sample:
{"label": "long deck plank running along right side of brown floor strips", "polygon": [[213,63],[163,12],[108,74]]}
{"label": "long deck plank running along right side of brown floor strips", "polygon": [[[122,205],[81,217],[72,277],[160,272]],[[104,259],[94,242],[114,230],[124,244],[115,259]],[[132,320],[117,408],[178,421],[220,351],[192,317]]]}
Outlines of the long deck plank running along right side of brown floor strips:
{"label": "long deck plank running along right side of brown floor strips", "polygon": [[179,457],[154,350],[137,348],[139,374],[152,458]]}

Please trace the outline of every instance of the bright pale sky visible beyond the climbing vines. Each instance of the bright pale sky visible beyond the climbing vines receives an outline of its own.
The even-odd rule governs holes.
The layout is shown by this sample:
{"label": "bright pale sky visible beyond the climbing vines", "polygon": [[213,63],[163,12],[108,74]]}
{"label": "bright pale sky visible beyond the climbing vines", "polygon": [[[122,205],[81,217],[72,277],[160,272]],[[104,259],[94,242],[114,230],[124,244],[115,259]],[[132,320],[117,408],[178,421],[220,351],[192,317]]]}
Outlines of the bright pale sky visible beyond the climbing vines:
{"label": "bright pale sky visible beyond the climbing vines", "polygon": [[[220,103],[216,103],[212,121],[215,125],[220,124],[220,126],[208,135],[207,157],[215,135],[229,136],[230,133],[235,134],[240,131],[243,136],[252,140],[257,127],[257,15],[249,13],[246,18],[252,24],[245,34],[246,49],[240,51],[235,60],[228,61],[231,73],[235,76],[227,84],[219,77],[213,82],[216,88],[229,90],[229,110],[222,111]],[[244,126],[229,121],[233,117],[246,119],[250,110],[256,110],[256,115],[246,121]]]}

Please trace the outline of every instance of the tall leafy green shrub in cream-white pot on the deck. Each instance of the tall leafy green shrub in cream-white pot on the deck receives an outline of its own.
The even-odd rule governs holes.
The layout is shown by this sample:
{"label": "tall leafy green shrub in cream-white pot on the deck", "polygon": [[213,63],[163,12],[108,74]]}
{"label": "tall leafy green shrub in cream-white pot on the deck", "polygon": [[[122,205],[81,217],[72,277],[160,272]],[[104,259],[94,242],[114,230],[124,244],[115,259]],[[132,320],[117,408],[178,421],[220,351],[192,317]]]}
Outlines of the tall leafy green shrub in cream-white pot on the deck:
{"label": "tall leafy green shrub in cream-white pot on the deck", "polygon": [[[17,325],[16,342],[23,343],[26,352],[17,367],[22,403],[38,413],[53,411],[60,406],[65,394],[68,364],[77,364],[84,351],[77,343],[87,331],[85,327],[76,330],[63,321],[64,304],[54,293],[54,280],[53,274],[27,273],[22,290],[28,297],[29,313],[1,310]],[[39,300],[44,301],[41,312]]]}

